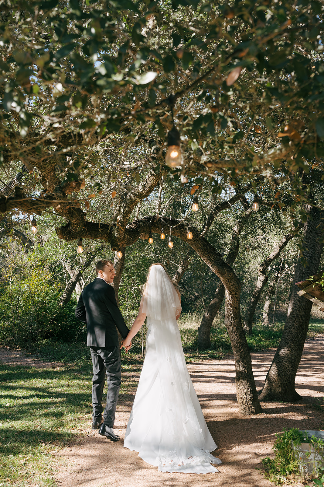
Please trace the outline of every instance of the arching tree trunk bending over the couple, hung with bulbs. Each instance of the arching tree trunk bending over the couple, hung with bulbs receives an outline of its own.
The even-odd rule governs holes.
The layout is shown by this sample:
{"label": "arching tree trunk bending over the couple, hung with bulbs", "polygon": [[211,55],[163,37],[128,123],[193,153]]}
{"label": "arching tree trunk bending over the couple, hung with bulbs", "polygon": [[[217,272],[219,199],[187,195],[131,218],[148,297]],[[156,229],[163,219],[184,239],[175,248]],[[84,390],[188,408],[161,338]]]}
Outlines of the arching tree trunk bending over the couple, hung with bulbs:
{"label": "arching tree trunk bending over the couple, hung with bulbs", "polygon": [[[112,248],[115,244],[119,247],[125,245],[132,245],[138,238],[147,239],[149,232],[159,234],[161,231],[161,223],[165,233],[178,237],[183,242],[186,242],[194,249],[199,257],[210,267],[210,269],[221,279],[229,295],[232,296],[227,306],[227,317],[230,323],[231,335],[230,337],[237,337],[233,341],[233,350],[238,346],[236,357],[236,367],[239,370],[238,380],[238,402],[240,412],[242,414],[255,414],[261,411],[260,403],[256,393],[256,386],[252,373],[251,356],[249,347],[243,332],[239,309],[240,298],[240,282],[236,277],[233,269],[226,262],[223,261],[222,256],[209,242],[200,234],[197,229],[193,229],[193,238],[187,239],[187,224],[181,220],[174,218],[163,219],[159,218],[157,222],[154,221],[154,216],[147,216],[136,222],[127,225],[124,232],[119,232],[117,235],[116,229],[112,231],[112,225],[103,225],[97,223],[86,222],[84,228],[78,231],[71,231],[66,225],[57,229],[59,238],[64,240],[75,240],[77,237],[101,239],[110,242]],[[90,232],[90,233],[85,233]],[[79,235],[80,233],[80,235]],[[123,244],[124,243],[124,244]],[[233,289],[234,286],[234,289]],[[238,286],[238,288],[237,288]],[[232,294],[231,294],[232,293]],[[233,294],[234,293],[234,294]],[[244,362],[245,361],[245,362]],[[243,364],[243,365],[242,365]],[[242,373],[242,368],[243,373]],[[244,390],[247,392],[244,393]]]}

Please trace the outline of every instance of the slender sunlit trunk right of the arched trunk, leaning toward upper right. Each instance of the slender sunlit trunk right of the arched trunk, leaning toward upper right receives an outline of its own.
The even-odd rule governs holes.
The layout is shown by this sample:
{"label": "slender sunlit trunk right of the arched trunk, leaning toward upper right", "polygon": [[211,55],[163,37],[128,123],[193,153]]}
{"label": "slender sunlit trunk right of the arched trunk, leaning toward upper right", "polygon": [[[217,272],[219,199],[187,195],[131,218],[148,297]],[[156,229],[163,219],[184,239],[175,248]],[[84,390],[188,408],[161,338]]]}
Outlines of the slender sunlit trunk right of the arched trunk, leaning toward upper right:
{"label": "slender sunlit trunk right of the arched trunk, leaning toward upper right", "polygon": [[284,249],[286,247],[286,245],[288,244],[288,242],[290,242],[290,240],[295,236],[296,236],[296,233],[289,233],[288,235],[285,235],[283,237],[283,239],[281,240],[281,242],[279,242],[279,244],[276,245],[273,252],[260,264],[260,266],[257,270],[256,287],[252,293],[252,296],[251,296],[251,299],[250,299],[250,302],[248,305],[248,309],[247,309],[247,312],[245,315],[244,325],[243,325],[244,331],[248,335],[252,334],[253,317],[254,317],[255,312],[256,312],[256,306],[257,306],[257,303],[259,302],[263,288],[264,288],[266,282],[268,281],[268,276],[266,274],[267,269],[268,269],[269,265],[275,259],[277,259],[279,257],[282,249]]}

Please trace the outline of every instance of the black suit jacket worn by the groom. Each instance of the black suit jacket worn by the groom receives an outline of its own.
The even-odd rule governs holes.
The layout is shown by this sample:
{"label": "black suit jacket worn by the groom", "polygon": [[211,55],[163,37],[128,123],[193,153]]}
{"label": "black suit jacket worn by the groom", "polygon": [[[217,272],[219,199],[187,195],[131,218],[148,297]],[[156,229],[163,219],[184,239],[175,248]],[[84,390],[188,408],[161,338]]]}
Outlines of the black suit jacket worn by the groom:
{"label": "black suit jacket worn by the groom", "polygon": [[116,327],[123,338],[129,332],[119,311],[114,288],[100,278],[85,286],[75,316],[86,323],[86,344],[89,347],[118,347]]}

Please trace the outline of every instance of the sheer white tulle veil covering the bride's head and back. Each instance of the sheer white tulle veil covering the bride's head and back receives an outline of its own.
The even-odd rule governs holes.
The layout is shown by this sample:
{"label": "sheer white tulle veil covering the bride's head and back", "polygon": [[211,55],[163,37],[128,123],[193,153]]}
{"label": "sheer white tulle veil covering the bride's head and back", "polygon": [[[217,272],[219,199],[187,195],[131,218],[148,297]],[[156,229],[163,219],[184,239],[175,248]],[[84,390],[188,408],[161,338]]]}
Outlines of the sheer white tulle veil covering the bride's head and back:
{"label": "sheer white tulle veil covering the bride's head and back", "polygon": [[153,321],[163,321],[174,318],[179,305],[179,295],[164,267],[153,264],[144,290],[142,313]]}

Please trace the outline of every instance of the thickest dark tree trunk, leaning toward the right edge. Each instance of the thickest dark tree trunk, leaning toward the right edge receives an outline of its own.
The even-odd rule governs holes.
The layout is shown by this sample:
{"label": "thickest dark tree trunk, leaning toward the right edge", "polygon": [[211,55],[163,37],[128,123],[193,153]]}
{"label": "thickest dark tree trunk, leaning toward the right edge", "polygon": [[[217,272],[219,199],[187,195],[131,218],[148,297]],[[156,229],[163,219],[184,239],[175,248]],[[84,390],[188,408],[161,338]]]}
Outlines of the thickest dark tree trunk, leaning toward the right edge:
{"label": "thickest dark tree trunk, leaning toward the right edge", "polygon": [[[322,215],[316,207],[305,206],[310,218],[304,225],[303,257],[296,264],[293,284],[316,274],[323,250]],[[294,285],[281,341],[260,394],[262,401],[293,402],[301,397],[295,391],[295,376],[307,336],[312,302],[298,296],[298,290]]]}

